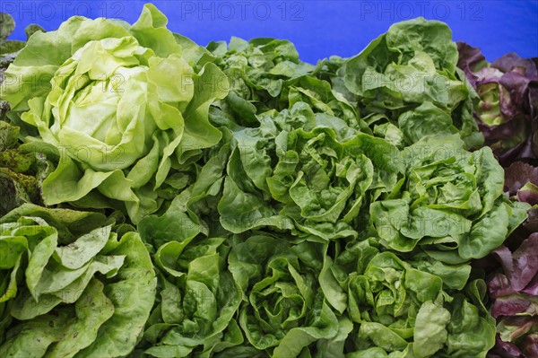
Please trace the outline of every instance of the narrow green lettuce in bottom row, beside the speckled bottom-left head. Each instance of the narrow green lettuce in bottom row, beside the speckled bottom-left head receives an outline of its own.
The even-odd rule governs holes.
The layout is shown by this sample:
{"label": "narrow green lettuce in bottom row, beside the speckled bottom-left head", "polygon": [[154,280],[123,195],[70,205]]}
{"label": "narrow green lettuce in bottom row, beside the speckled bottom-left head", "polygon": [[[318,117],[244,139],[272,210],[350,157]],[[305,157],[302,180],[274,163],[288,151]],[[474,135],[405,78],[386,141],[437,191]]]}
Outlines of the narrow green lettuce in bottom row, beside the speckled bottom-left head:
{"label": "narrow green lettuce in bottom row, beside the speckled bottom-left head", "polygon": [[[200,228],[180,212],[147,216],[143,240],[158,246],[159,301],[148,320],[141,348],[155,357],[209,357],[243,342],[237,324],[242,292],[225,265],[225,238],[197,236]],[[174,230],[176,229],[176,230]]]}

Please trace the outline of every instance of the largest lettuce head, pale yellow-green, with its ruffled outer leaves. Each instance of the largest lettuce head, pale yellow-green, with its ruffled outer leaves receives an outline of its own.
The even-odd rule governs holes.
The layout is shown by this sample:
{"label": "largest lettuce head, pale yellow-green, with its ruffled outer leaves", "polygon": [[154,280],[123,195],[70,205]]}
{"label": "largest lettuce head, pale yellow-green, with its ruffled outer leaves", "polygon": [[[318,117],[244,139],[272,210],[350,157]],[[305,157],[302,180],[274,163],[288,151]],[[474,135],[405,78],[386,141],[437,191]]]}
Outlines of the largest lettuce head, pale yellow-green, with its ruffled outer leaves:
{"label": "largest lettuce head, pale yellow-green, with its ruffled outer leaves", "polygon": [[197,65],[188,52],[200,51],[182,48],[166,23],[152,4],[132,26],[73,17],[32,36],[6,71],[13,115],[60,156],[46,204],[125,202],[137,222],[159,208],[156,190],[174,170],[220,141],[207,113],[228,80],[207,58]]}

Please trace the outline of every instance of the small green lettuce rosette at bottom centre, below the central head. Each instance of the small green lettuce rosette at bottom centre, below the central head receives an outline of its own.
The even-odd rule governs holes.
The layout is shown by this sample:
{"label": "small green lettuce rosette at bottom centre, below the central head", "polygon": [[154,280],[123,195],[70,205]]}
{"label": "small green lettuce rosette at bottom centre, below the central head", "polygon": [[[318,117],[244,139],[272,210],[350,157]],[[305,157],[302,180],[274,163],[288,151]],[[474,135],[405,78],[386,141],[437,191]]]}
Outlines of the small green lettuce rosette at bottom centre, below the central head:
{"label": "small green lettuce rosette at bottom centre, below the central head", "polygon": [[239,326],[256,349],[295,357],[315,342],[341,343],[336,336],[340,322],[317,283],[323,249],[308,242],[291,246],[265,235],[238,240],[232,247],[230,271],[246,295]]}

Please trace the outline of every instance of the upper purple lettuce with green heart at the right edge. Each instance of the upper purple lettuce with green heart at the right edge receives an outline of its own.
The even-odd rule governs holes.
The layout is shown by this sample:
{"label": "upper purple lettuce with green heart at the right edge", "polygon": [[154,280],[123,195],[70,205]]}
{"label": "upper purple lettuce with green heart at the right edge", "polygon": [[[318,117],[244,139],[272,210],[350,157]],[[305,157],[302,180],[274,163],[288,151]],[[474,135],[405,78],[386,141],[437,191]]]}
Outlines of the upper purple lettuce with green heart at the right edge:
{"label": "upper purple lettuce with green heart at the right edge", "polygon": [[488,64],[479,48],[457,45],[458,67],[480,97],[473,114],[486,144],[505,167],[519,159],[536,159],[536,61],[509,53]]}

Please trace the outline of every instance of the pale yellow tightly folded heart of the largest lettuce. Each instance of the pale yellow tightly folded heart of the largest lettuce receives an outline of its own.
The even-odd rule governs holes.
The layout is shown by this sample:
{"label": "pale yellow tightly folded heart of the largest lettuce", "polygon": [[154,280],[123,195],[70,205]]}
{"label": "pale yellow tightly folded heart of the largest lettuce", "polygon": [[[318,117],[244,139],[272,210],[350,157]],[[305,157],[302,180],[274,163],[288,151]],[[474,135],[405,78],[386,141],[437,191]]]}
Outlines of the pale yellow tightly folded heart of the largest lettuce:
{"label": "pale yellow tightly folded heart of the largest lettuce", "polygon": [[[184,91],[158,91],[163,68],[190,81],[178,83]],[[22,118],[82,168],[123,170],[150,152],[156,130],[182,135],[179,108],[193,97],[192,74],[178,55],[155,57],[133,37],[90,41],[58,68],[45,103],[30,100]]]}

